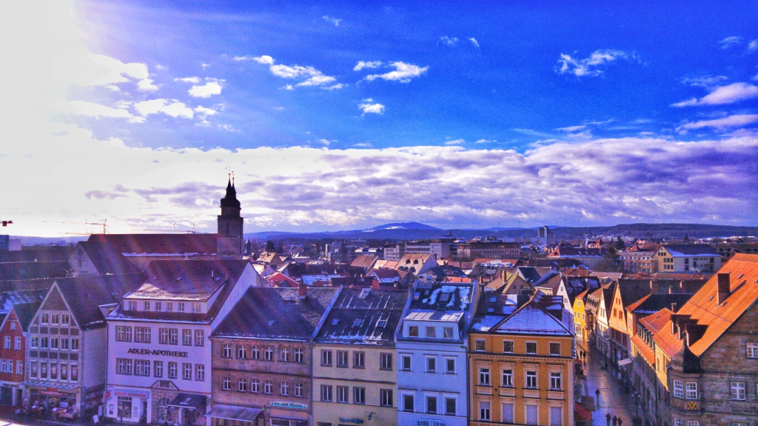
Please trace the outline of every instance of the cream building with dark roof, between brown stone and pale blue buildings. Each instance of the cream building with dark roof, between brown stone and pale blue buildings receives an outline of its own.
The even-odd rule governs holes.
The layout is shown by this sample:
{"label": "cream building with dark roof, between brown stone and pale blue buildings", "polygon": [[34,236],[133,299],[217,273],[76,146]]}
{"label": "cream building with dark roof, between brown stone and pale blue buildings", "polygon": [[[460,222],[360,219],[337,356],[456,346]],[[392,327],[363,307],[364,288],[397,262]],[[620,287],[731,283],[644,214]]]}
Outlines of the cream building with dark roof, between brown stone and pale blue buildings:
{"label": "cream building with dark roof, between brown stone and pale blue buildings", "polygon": [[313,347],[316,426],[397,424],[396,330],[408,292],[343,288]]}

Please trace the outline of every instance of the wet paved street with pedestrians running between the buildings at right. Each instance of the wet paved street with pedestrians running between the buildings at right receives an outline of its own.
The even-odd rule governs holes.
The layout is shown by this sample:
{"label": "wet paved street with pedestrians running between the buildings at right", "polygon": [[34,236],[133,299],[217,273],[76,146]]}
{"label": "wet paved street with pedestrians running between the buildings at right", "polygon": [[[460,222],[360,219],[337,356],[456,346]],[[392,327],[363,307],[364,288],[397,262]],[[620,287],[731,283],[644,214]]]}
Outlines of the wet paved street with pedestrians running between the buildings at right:
{"label": "wet paved street with pedestrians running between the buildings at right", "polygon": [[580,344],[579,349],[587,352],[587,362],[584,363],[584,375],[587,376],[586,391],[595,397],[595,390],[600,389],[600,400],[595,401],[595,412],[592,413],[593,426],[606,426],[608,413],[611,417],[621,417],[622,426],[632,426],[631,419],[635,415],[633,396],[622,390],[611,363],[609,362],[609,369],[606,370],[605,358],[595,352],[594,348],[583,347]]}

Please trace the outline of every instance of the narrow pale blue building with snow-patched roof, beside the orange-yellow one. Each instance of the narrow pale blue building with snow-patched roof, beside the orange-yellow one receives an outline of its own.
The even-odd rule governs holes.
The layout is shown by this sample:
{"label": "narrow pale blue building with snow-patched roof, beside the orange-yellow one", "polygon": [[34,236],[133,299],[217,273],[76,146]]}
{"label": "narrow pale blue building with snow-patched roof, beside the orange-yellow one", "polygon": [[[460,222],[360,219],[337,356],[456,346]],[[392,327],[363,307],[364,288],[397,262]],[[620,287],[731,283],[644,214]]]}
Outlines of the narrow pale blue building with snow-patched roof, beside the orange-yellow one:
{"label": "narrow pale blue building with snow-patched roof, beside the orange-yellow one", "polygon": [[397,424],[468,424],[466,335],[477,285],[417,284],[398,328]]}

